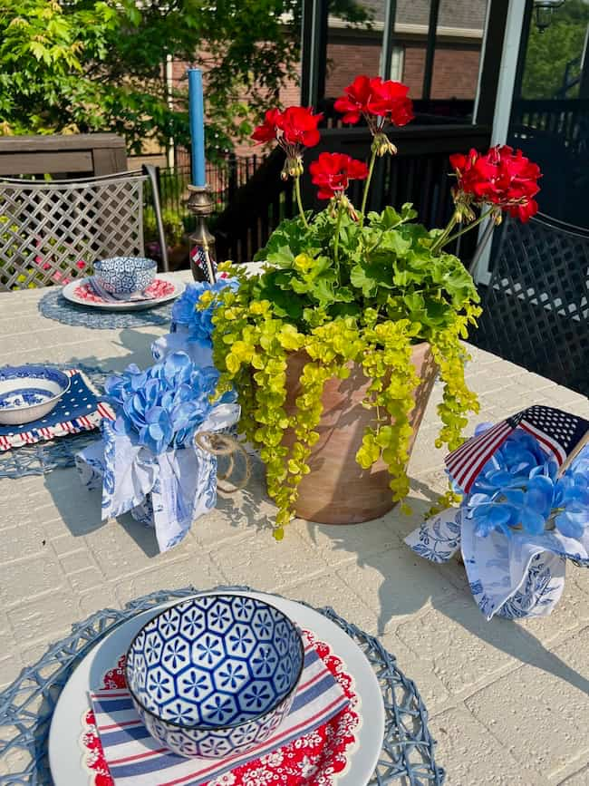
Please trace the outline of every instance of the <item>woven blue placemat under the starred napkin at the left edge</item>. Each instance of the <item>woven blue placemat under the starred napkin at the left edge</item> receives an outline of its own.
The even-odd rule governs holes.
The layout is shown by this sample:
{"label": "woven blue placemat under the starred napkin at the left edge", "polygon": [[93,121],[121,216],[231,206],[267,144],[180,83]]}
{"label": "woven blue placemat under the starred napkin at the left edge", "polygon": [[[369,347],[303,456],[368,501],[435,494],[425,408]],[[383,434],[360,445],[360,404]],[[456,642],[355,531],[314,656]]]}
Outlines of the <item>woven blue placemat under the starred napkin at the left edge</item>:
{"label": "woven blue placemat under the starred napkin at the left edge", "polygon": [[[59,368],[72,368],[72,364],[56,364]],[[95,390],[101,392],[110,372],[95,366],[76,363]],[[23,478],[25,475],[44,475],[59,467],[72,467],[74,456],[100,437],[100,432],[80,432],[57,437],[47,442],[22,445],[10,451],[0,452],[0,478]]]}

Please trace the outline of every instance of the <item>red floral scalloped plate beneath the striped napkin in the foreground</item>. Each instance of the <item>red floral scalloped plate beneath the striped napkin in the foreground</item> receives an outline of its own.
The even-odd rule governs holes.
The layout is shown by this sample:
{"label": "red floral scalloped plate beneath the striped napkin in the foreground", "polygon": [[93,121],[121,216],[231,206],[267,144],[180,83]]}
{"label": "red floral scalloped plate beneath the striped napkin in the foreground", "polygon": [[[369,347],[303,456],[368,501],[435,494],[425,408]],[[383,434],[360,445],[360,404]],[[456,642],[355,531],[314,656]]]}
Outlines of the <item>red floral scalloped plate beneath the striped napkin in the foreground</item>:
{"label": "red floral scalloped plate beneath the striped napkin in the foreground", "polygon": [[[352,676],[345,672],[341,658],[332,654],[329,645],[317,641],[313,633],[305,631],[305,636],[314,644],[317,654],[342,685],[350,704],[313,733],[305,734],[275,752],[227,771],[215,780],[208,781],[207,786],[335,786],[338,776],[347,770],[361,724],[359,698],[353,690]],[[103,690],[127,686],[124,665],[125,656],[121,655],[118,665],[104,674]],[[83,718],[82,747],[90,786],[114,786],[104,760],[92,710],[88,710]]]}

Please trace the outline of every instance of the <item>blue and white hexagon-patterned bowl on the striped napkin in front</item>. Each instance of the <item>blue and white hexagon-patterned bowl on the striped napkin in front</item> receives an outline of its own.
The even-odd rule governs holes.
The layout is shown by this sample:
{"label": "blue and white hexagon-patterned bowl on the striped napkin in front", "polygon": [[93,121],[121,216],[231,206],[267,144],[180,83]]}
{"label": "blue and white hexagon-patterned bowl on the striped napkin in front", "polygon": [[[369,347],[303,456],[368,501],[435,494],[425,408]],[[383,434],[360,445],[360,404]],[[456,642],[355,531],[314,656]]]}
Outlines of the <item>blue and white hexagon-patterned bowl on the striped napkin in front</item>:
{"label": "blue and white hexagon-patterned bowl on the striped napkin in front", "polygon": [[274,732],[290,711],[303,665],[300,631],[275,606],[201,595],[141,628],[126,676],[152,737],[179,756],[218,759]]}

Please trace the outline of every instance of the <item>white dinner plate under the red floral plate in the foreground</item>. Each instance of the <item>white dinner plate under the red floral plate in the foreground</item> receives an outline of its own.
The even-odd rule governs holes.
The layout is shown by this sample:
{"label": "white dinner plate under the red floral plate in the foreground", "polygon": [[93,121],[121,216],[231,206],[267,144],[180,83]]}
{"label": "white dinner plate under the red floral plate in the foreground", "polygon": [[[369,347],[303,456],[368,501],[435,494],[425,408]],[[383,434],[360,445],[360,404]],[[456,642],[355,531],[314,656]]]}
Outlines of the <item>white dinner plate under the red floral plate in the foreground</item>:
{"label": "white dinner plate under the red floral plate in the foreground", "polygon": [[[195,593],[206,595],[208,593]],[[372,666],[360,647],[331,620],[293,600],[261,592],[218,590],[216,594],[247,595],[272,603],[299,626],[313,631],[318,639],[330,645],[334,655],[343,660],[345,671],[354,679],[354,690],[360,697],[360,728],[355,733],[357,746],[350,753],[348,769],[337,778],[337,786],[365,786],[372,777],[381,753],[384,736],[384,706],[381,688]],[[86,655],[63,687],[49,732],[49,764],[54,786],[89,786],[90,776],[84,769],[80,747],[82,716],[90,708],[89,691],[101,687],[101,679],[125,653],[140,628],[158,615],[162,608],[174,606],[186,598],[176,598],[133,616],[105,636]],[[311,784],[309,784],[311,786]]]}

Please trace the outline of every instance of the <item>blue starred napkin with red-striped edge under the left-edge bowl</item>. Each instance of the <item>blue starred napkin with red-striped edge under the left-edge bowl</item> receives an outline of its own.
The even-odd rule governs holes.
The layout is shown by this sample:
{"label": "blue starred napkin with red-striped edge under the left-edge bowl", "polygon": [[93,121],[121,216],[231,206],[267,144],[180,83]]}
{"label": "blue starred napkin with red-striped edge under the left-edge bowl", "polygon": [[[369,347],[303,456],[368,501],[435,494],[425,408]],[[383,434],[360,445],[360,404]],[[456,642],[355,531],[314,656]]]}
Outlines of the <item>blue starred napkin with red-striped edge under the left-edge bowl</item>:
{"label": "blue starred napkin with red-striped edge under the left-edge bowl", "polygon": [[82,372],[72,368],[65,374],[72,378],[70,389],[44,418],[21,426],[0,425],[0,451],[92,431],[100,426],[102,418],[113,418],[111,407],[101,402]]}

